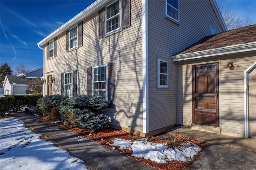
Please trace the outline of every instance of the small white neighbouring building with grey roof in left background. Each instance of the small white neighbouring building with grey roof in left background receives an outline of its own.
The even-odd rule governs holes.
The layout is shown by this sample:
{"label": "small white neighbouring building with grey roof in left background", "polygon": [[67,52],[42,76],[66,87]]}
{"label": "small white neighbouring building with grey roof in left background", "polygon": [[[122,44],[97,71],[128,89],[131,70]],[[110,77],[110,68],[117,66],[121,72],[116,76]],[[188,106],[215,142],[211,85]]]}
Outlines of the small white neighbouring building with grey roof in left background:
{"label": "small white neighbouring building with grey roof in left background", "polygon": [[3,83],[5,95],[26,95],[27,85],[35,77],[6,75]]}

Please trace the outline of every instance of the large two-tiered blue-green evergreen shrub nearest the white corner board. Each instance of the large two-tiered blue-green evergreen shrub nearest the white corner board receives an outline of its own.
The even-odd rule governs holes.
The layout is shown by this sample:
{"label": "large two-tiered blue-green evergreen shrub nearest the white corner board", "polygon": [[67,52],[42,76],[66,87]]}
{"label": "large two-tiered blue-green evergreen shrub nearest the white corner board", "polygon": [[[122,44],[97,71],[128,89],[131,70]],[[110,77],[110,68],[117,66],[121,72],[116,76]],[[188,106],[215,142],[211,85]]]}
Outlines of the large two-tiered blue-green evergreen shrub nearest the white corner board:
{"label": "large two-tiered blue-green evergreen shrub nearest the white corner board", "polygon": [[103,128],[108,122],[108,116],[95,113],[106,111],[109,104],[110,101],[92,95],[68,98],[60,103],[61,121],[64,125],[80,125],[95,130]]}

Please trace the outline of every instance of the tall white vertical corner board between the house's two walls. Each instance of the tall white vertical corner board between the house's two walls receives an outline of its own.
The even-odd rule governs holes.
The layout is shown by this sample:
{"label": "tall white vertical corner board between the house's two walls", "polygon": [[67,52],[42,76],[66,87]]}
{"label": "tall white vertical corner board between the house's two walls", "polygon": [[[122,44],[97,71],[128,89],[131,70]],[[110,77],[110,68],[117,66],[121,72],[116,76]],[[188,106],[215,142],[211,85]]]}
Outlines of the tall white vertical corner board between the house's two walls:
{"label": "tall white vertical corner board between the house's two walls", "polygon": [[142,132],[148,133],[148,0],[142,0]]}

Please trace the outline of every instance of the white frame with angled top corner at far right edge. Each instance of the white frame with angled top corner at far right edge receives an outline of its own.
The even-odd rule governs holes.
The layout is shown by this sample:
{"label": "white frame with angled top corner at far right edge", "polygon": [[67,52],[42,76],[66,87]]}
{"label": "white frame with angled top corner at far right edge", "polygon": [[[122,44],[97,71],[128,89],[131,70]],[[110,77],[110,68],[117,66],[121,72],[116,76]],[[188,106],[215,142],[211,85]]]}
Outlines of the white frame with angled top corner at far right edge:
{"label": "white frame with angled top corner at far right edge", "polygon": [[248,75],[256,69],[256,62],[253,63],[246,71],[244,71],[244,134],[245,138],[249,137],[249,82]]}

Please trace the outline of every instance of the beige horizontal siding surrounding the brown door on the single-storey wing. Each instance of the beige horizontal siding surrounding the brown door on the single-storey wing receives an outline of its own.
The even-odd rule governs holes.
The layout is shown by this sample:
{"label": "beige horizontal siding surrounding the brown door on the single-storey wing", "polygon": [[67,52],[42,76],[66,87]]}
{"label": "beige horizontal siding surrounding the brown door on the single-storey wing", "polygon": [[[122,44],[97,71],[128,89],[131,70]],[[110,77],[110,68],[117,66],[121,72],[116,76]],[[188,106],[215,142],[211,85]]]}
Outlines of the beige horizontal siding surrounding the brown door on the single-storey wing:
{"label": "beige horizontal siding surrounding the brown door on the single-storey wing", "polygon": [[[234,61],[234,70],[227,67],[230,61]],[[177,88],[178,123],[184,125],[192,123],[192,65],[218,62],[221,133],[244,136],[244,71],[255,61],[255,52],[251,52],[178,63],[177,83],[182,85]]]}

